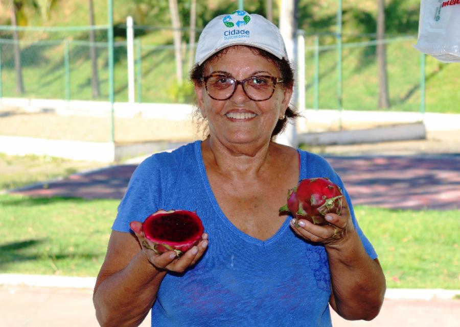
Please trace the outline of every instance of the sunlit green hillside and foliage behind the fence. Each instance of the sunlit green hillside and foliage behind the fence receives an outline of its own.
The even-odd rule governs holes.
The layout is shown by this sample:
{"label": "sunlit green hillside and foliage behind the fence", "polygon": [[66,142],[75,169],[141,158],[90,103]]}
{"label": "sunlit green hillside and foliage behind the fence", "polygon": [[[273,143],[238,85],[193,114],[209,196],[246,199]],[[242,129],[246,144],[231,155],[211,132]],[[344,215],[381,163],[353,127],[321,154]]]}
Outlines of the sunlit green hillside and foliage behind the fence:
{"label": "sunlit green hillside and foliage behind the fence", "polygon": [[[26,1],[26,0],[24,0]],[[32,0],[31,0],[32,1]],[[35,4],[45,0],[33,0]],[[50,3],[50,2],[48,2]],[[84,26],[89,23],[87,2],[75,0],[67,2],[52,1],[48,20],[43,20],[36,10],[25,11],[31,24],[36,26]],[[265,1],[246,2],[249,12],[265,15]],[[275,23],[279,14],[277,2],[273,2]],[[190,2],[178,2],[182,27],[187,29],[190,23]],[[237,2],[207,0],[197,1],[197,28],[217,14],[234,10]],[[416,0],[390,0],[386,3],[386,32],[388,35],[411,34],[413,40],[387,45],[388,84],[390,110],[420,110],[420,54],[413,48],[418,26],[420,3]],[[37,7],[38,8],[38,7]],[[181,88],[174,82],[175,65],[172,44],[169,6],[166,1],[158,0],[114,0],[114,34],[117,41],[125,40],[125,19],[134,15],[136,24],[148,25],[135,30],[137,40],[142,47],[135,48],[136,58],[141,61],[136,65],[136,87],[142,89],[142,102],[170,103],[193,102],[190,88]],[[359,3],[347,0],[343,2],[343,41],[364,42],[375,39],[377,5],[375,1],[365,0]],[[107,3],[95,6],[96,24],[107,23]],[[336,1],[325,0],[310,2],[300,0],[296,9],[299,27],[307,33],[335,32]],[[1,19],[1,16],[0,16]],[[2,23],[2,22],[0,22]],[[7,21],[5,22],[7,23]],[[167,28],[167,29],[159,29]],[[0,32],[1,34],[2,32]],[[359,33],[368,36],[357,36]],[[197,36],[199,30],[197,31]],[[10,32],[1,36],[11,38]],[[21,66],[27,97],[65,98],[66,75],[64,61],[64,43],[50,44],[50,39],[70,39],[70,97],[71,99],[91,99],[91,63],[87,43],[88,32],[38,33],[21,32],[21,40],[30,43],[21,44]],[[105,42],[107,33],[96,31],[96,39]],[[189,34],[182,32],[182,40],[188,42]],[[40,43],[40,40],[47,42]],[[59,41],[60,42],[60,41]],[[322,35],[320,45],[334,45],[336,38]],[[312,38],[307,35],[307,46],[312,46]],[[16,96],[14,51],[9,43],[0,44],[2,51],[2,93],[3,96]],[[137,50],[141,49],[141,54]],[[192,50],[193,51],[193,50]],[[376,47],[363,46],[343,50],[343,108],[351,110],[375,110],[378,99]],[[183,62],[188,62],[190,50],[183,51]],[[104,43],[97,47],[101,96],[99,100],[108,99],[108,59]],[[321,51],[319,58],[319,107],[337,108],[337,62],[334,49]],[[313,53],[307,50],[307,107],[313,107]],[[126,101],[128,97],[126,78],[126,47],[116,44],[114,50],[115,64],[115,100]],[[445,69],[445,67],[449,67]],[[189,67],[185,67],[188,69]],[[137,74],[141,72],[141,75]],[[455,90],[455,78],[460,75],[460,66],[435,62],[427,57],[426,62],[426,111],[458,113],[456,105],[460,102],[460,93]],[[140,82],[140,83],[139,83]],[[136,94],[139,94],[136,91]]]}

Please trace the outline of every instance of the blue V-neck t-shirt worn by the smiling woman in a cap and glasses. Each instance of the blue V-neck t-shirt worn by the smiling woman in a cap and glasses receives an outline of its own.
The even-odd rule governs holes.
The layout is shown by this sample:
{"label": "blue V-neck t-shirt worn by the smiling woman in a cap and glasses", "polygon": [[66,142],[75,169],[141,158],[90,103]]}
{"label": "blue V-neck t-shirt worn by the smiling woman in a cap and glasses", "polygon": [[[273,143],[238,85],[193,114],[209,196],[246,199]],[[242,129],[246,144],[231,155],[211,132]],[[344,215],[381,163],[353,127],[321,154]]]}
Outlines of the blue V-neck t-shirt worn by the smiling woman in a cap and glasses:
{"label": "blue V-neck t-shirt worn by the smiling woman in a cap and glasses", "polygon": [[[211,190],[201,142],[146,159],[134,171],[113,230],[130,232],[158,209],[196,211],[209,247],[185,273],[168,273],[152,308],[152,326],[331,326],[331,281],[323,245],[304,241],[289,228],[265,241],[235,227]],[[367,254],[377,257],[360,230],[343,183],[329,163],[298,150],[300,179],[328,177],[347,197]]]}

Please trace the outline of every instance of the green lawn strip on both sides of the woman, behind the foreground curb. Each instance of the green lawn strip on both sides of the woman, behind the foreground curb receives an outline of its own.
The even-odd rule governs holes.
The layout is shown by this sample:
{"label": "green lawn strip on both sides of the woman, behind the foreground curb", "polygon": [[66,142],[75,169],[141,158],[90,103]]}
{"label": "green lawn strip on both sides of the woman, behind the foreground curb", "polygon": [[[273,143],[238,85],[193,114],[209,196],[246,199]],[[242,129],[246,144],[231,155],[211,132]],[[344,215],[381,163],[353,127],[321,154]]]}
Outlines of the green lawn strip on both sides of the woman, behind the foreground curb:
{"label": "green lawn strip on both sides of the woman, behind the foreground curb", "polygon": [[[118,203],[0,196],[0,272],[95,276]],[[459,210],[355,210],[388,287],[460,289]]]}

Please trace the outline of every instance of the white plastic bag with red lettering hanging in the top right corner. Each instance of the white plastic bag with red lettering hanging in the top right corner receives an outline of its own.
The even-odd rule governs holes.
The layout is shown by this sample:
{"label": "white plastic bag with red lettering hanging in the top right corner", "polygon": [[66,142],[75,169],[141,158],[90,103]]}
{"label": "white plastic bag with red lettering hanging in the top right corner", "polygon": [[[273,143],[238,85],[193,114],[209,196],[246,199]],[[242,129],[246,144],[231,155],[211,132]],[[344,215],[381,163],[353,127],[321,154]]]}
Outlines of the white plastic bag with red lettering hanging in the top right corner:
{"label": "white plastic bag with red lettering hanging in the top right corner", "polygon": [[460,62],[460,0],[422,0],[420,52],[443,62]]}

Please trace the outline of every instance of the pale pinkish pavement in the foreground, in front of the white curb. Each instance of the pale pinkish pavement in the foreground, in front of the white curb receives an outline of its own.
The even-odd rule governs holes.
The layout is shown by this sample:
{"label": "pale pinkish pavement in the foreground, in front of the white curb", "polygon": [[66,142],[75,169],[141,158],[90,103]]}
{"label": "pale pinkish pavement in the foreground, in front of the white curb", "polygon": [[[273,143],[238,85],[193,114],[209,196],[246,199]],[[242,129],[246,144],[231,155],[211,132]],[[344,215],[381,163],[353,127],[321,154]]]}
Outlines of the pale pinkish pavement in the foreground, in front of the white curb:
{"label": "pale pinkish pavement in the foreground, in front of the white curb", "polygon": [[[97,327],[92,295],[91,289],[0,286],[0,327]],[[372,321],[347,321],[333,311],[332,321],[334,327],[457,327],[460,300],[387,298]]]}

